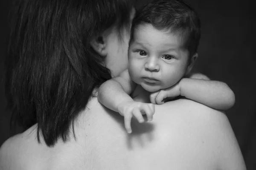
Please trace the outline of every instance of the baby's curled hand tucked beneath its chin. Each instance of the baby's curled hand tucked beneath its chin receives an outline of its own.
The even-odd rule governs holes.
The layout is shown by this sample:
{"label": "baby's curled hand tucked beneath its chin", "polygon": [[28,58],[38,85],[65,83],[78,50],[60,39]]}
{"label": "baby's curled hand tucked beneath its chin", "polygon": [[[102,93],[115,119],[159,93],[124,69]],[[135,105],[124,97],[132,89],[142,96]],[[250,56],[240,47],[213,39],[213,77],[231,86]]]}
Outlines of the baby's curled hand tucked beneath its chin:
{"label": "baby's curled hand tucked beneath its chin", "polygon": [[180,96],[180,82],[172,87],[151,93],[150,102],[153,104],[162,105],[164,103],[164,99],[173,99],[177,96]]}

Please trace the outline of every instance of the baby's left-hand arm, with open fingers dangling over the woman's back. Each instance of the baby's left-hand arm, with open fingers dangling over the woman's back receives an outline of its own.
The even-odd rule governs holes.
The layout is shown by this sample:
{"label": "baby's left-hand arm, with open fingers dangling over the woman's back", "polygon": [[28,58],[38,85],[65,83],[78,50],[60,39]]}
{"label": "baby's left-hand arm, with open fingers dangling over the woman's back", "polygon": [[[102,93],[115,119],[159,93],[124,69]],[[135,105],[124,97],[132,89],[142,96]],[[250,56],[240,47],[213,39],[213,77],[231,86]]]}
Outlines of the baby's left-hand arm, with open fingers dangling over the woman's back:
{"label": "baby's left-hand arm, with open fingers dangling over the woman's back", "polygon": [[131,133],[132,116],[139,122],[144,122],[141,111],[145,112],[148,120],[151,120],[154,114],[154,105],[134,102],[129,96],[136,86],[137,84],[131,80],[128,70],[125,70],[119,77],[104,82],[99,88],[99,102],[124,116],[125,128],[128,133]]}

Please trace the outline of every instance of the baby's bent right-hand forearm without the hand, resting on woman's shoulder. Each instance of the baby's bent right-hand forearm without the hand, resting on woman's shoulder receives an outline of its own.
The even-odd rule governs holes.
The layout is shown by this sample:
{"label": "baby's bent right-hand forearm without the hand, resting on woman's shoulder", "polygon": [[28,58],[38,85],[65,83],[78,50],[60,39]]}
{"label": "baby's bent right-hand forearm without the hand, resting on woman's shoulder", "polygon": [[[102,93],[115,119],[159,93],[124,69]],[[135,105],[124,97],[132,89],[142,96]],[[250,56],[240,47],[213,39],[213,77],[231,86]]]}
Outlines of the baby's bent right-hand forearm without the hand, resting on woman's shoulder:
{"label": "baby's bent right-hand forearm without the hand, resting on woman's shoulder", "polygon": [[235,95],[224,82],[183,78],[179,82],[180,95],[211,108],[227,110],[235,103]]}

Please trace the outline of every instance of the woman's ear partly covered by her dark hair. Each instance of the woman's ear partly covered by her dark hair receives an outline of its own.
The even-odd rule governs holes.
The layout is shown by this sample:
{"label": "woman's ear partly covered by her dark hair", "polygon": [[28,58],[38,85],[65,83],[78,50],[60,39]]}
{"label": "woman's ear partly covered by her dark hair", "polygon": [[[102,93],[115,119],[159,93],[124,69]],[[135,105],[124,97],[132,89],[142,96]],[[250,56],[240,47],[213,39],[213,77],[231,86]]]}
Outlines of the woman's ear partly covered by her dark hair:
{"label": "woman's ear partly covered by her dark hair", "polygon": [[107,44],[104,36],[93,37],[93,39],[90,41],[90,45],[99,55],[107,55]]}

